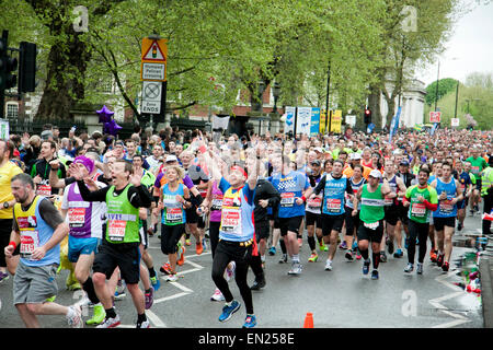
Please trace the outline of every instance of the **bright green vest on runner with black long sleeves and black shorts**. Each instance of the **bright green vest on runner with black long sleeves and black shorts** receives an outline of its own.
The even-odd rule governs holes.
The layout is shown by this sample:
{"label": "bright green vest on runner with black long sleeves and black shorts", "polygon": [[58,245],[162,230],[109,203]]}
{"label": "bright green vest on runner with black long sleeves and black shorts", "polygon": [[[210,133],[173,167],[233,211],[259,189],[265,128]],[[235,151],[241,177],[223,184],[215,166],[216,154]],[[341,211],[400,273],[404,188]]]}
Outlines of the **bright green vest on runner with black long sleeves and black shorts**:
{"label": "bright green vest on runner with black long sleeves and black shorts", "polygon": [[135,208],[128,201],[127,185],[124,191],[114,196],[115,186],[106,192],[107,225],[106,241],[111,243],[138,243],[139,235],[139,208]]}

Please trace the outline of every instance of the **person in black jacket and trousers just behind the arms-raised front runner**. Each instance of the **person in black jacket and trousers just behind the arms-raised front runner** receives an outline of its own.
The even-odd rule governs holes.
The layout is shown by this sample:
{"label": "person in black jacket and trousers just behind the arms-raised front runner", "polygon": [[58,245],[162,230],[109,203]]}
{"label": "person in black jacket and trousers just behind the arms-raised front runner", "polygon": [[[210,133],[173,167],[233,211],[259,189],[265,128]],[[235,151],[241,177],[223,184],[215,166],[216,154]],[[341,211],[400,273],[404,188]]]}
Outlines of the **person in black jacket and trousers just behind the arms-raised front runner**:
{"label": "person in black jacket and trousers just behind the arms-raised front runner", "polygon": [[[261,170],[261,174],[264,175],[264,170]],[[265,250],[267,249],[267,240],[270,235],[270,221],[267,215],[267,207],[276,208],[280,201],[280,195],[277,189],[265,179],[265,177],[259,175],[255,196],[253,202],[255,208],[253,209],[254,223],[255,223],[255,240],[259,245],[259,255],[252,256],[250,267],[255,275],[255,281],[253,282],[251,290],[260,290],[265,287],[265,273],[262,264],[265,262]]]}

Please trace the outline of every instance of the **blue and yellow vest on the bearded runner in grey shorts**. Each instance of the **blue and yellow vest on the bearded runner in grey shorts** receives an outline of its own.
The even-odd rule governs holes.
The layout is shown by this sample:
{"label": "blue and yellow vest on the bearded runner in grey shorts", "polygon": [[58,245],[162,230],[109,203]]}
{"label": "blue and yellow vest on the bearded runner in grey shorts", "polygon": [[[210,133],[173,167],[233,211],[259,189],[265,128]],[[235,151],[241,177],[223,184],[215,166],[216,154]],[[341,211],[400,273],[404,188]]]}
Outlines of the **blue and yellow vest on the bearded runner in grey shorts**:
{"label": "blue and yellow vest on the bearded runner in grey shorts", "polygon": [[[20,254],[21,261],[26,266],[46,266],[60,264],[60,245],[46,252],[41,260],[31,260],[34,249],[43,246],[51,238],[54,229],[43,220],[39,213],[39,203],[44,197],[36,196],[26,211],[22,210],[21,203],[14,206],[14,219],[21,232]],[[48,199],[46,199],[48,200]]]}

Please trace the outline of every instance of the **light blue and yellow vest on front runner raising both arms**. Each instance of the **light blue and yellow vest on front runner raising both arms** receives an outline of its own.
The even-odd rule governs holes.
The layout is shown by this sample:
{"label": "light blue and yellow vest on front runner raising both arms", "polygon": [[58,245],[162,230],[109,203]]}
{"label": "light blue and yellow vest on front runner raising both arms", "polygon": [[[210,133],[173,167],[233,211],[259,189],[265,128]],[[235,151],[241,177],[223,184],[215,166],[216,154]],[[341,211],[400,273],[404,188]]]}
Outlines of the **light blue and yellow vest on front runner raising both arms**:
{"label": "light blue and yellow vest on front runner raising both arms", "polygon": [[236,192],[230,187],[222,196],[221,225],[219,240],[246,242],[253,238],[253,206],[249,205],[243,187]]}

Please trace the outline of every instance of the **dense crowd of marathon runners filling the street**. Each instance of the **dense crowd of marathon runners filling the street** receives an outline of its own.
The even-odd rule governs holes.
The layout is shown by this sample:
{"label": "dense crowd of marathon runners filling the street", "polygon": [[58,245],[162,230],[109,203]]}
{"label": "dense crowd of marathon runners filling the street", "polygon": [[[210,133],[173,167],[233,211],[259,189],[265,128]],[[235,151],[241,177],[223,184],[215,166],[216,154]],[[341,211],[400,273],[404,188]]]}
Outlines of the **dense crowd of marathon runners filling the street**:
{"label": "dense crowd of marathon runners filling the street", "polygon": [[[176,281],[187,249],[209,249],[210,300],[225,303],[218,320],[240,308],[234,279],[243,327],[254,327],[252,291],[266,288],[267,255],[293,278],[319,259],[328,273],[337,269],[337,249],[374,280],[388,259],[402,259],[404,275],[425,273],[425,259],[448,271],[467,215],[491,234],[492,142],[492,131],[447,129],[390,139],[165,128],[118,140],[47,125],[39,136],[12,135],[0,140],[0,283],[13,278],[26,327],[41,326],[37,315],[116,327],[114,302],[126,289],[136,327],[148,328],[161,281]],[[151,256],[153,235],[162,254]],[[67,288],[85,294],[70,306],[56,302],[64,265]],[[85,320],[84,305],[93,306]]]}

